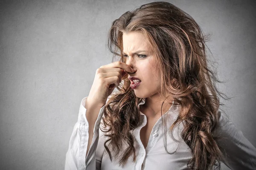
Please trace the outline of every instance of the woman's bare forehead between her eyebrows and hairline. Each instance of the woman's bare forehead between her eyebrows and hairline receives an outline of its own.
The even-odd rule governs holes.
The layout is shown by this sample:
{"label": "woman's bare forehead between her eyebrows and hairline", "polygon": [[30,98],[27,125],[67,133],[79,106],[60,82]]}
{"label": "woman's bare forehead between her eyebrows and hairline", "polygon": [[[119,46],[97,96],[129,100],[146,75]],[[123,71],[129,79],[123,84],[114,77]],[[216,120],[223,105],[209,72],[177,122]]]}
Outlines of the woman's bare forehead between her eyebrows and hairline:
{"label": "woman's bare forehead between her eyebrows and hairline", "polygon": [[123,33],[123,51],[125,53],[132,53],[138,50],[149,50],[148,39],[140,32]]}

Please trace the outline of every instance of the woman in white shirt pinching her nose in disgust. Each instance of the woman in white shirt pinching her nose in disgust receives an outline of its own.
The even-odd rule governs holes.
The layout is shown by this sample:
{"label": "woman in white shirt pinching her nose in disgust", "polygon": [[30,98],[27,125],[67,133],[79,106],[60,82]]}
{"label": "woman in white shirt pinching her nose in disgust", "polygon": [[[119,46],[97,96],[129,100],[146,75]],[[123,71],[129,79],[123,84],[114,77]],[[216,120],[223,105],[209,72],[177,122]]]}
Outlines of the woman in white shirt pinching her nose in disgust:
{"label": "woman in white shirt pinching her nose in disgust", "polygon": [[81,101],[66,170],[256,168],[256,148],[219,111],[219,81],[189,14],[148,3],[115,20],[108,40],[120,58],[96,70]]}

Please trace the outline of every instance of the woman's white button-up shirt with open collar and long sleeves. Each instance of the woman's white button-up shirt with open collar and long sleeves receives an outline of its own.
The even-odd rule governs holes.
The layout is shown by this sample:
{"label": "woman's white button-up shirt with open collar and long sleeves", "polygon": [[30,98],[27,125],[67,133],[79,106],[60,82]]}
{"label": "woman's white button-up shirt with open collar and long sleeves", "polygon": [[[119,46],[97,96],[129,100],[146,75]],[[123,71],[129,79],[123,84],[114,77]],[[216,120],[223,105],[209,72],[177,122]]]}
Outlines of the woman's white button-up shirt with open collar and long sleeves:
{"label": "woman's white button-up shirt with open collar and long sleeves", "polygon": [[[140,126],[131,131],[135,137],[134,147],[137,159],[135,162],[132,162],[131,156],[122,168],[119,166],[118,160],[113,159],[111,162],[109,159],[104,147],[106,138],[104,132],[99,129],[105,105],[99,111],[99,116],[93,130],[92,144],[86,156],[89,137],[89,125],[85,116],[86,108],[84,107],[86,99],[87,97],[84,97],[81,101],[78,121],[70,137],[69,148],[66,153],[65,170],[186,170],[186,164],[191,159],[192,154],[190,148],[180,137],[182,126],[177,126],[173,131],[175,139],[179,140],[180,143],[175,142],[168,135],[169,127],[177,118],[178,107],[172,105],[169,111],[162,116],[163,120],[167,117],[167,149],[169,153],[175,153],[166,153],[163,140],[164,127],[162,128],[161,118],[154,125],[149,136],[148,145],[144,148],[140,140],[140,129],[146,125],[147,119],[140,112],[140,116],[143,118]],[[138,107],[143,104],[145,104],[145,99],[140,102]],[[222,153],[227,157],[222,162],[232,170],[256,170],[256,148],[243,136],[241,130],[238,130],[230,120],[221,115],[221,112],[218,113],[220,126],[216,127],[215,135],[227,137],[225,140],[217,141],[218,145],[221,146]],[[120,158],[120,156],[117,156],[117,158]]]}

